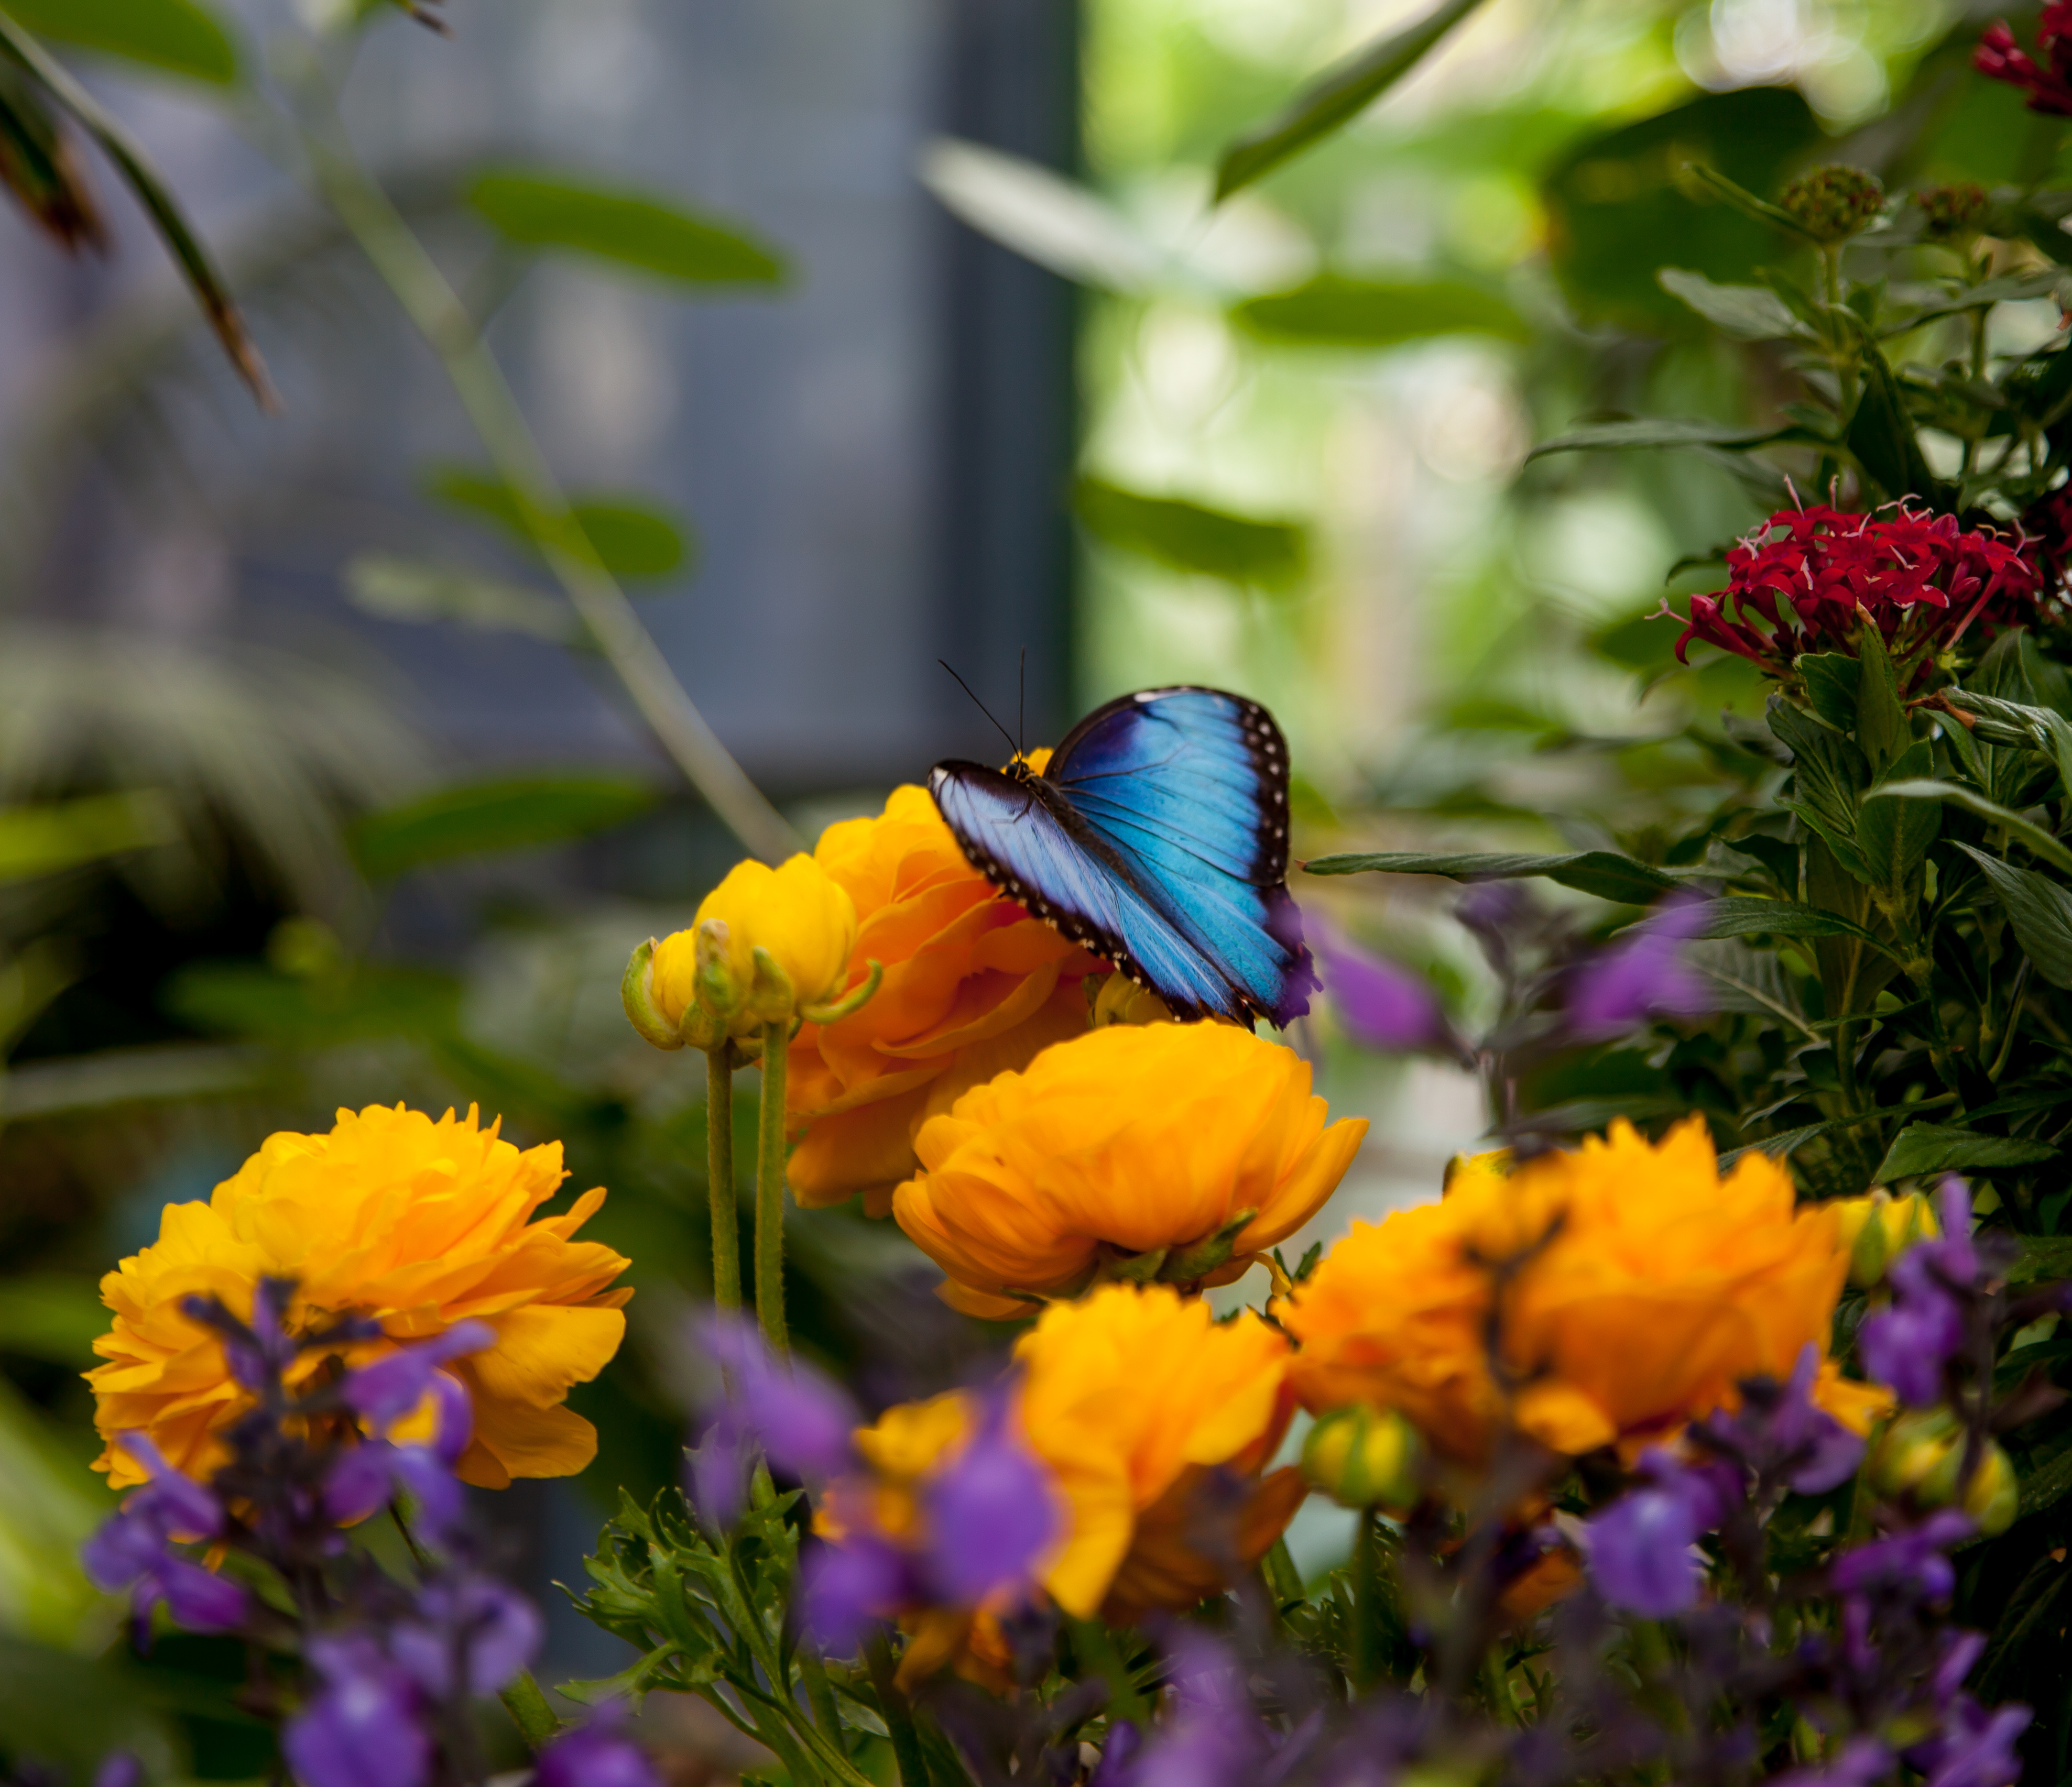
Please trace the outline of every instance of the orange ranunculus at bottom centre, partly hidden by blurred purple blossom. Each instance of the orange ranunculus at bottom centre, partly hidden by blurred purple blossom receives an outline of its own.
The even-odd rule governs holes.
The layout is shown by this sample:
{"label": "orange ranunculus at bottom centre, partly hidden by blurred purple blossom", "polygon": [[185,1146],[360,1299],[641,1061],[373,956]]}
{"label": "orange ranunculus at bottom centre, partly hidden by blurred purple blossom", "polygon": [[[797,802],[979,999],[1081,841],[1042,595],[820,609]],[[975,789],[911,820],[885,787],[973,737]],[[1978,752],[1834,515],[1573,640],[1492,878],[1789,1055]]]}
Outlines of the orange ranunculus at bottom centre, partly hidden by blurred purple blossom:
{"label": "orange ranunculus at bottom centre, partly hidden by blurred purple blossom", "polygon": [[[1152,1609],[1187,1609],[1256,1563],[1307,1493],[1293,1466],[1262,1476],[1293,1414],[1289,1346],[1251,1311],[1218,1323],[1171,1286],[1111,1284],[1061,1302],[1021,1336],[1009,1418],[1057,1485],[1063,1514],[1036,1584],[1075,1617],[1129,1623]],[[887,1410],[856,1435],[870,1472],[831,1487],[816,1526],[841,1543],[870,1530],[901,1547],[928,1541],[924,1489],[957,1456],[980,1400],[951,1391]],[[1204,1549],[1210,1472],[1235,1476],[1229,1530]],[[912,1642],[901,1677],[949,1661],[999,1677],[1007,1661],[997,1615],[1028,1588],[986,1607],[899,1607]],[[1003,1677],[1001,1677],[1003,1679]]]}

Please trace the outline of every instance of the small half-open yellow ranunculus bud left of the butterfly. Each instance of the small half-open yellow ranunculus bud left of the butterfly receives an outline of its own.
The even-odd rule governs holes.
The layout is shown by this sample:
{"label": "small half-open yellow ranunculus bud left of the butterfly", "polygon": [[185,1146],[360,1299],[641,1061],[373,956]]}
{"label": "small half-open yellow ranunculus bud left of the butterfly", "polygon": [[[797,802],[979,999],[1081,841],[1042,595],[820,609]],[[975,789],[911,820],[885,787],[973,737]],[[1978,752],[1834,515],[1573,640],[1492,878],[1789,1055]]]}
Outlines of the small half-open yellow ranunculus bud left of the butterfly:
{"label": "small half-open yellow ranunculus bud left of the butterfly", "polygon": [[[709,932],[715,921],[721,930]],[[700,934],[707,936],[702,975]],[[767,967],[758,971],[758,948],[781,982]],[[760,1035],[767,1023],[833,1000],[850,977],[854,948],[856,901],[810,855],[779,868],[740,861],[698,903],[690,930],[655,944],[655,1008],[682,1025],[684,1013],[700,1004],[733,1035]]]}

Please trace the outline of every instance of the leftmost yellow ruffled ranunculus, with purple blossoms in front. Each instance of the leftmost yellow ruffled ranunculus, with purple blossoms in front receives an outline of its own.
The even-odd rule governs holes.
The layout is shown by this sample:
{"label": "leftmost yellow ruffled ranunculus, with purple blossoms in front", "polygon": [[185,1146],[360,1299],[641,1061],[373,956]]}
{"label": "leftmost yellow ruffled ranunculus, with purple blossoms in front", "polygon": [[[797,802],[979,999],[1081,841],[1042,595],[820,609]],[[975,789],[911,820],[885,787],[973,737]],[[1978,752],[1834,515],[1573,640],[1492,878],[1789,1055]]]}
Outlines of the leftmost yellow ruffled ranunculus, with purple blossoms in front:
{"label": "leftmost yellow ruffled ranunculus, with purple blossoms in front", "polygon": [[[292,1331],[348,1311],[381,1323],[385,1340],[350,1348],[354,1367],[470,1317],[495,1329],[495,1346],[445,1367],[474,1402],[466,1483],[582,1470],[597,1431],[564,1404],[620,1350],[632,1290],[609,1288],[628,1259],[572,1238],[605,1201],[601,1187],[566,1215],[533,1220],[564,1178],[562,1143],[520,1153],[474,1110],[433,1122],[377,1104],[338,1112],[329,1135],[267,1137],[207,1203],[168,1205],[157,1240],[102,1280],[116,1317],[93,1342],[108,1363],[87,1373],[95,1427],[108,1441],[149,1433],[180,1470],[207,1476],[224,1458],[218,1435],[251,1398],[180,1300],[215,1294],[249,1319],[261,1278],[292,1278]],[[303,1354],[296,1369],[309,1377],[325,1356]],[[114,1443],[95,1468],[116,1489],[145,1481]]]}

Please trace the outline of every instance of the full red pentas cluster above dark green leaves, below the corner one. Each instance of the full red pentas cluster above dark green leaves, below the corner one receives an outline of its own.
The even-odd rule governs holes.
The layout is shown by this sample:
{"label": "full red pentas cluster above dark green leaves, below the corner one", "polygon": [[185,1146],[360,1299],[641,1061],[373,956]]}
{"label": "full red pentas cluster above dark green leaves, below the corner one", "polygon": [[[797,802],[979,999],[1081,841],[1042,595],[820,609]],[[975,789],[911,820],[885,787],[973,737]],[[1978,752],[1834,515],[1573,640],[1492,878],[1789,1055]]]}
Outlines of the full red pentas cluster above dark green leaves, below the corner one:
{"label": "full red pentas cluster above dark green leaves, below the corner one", "polygon": [[1904,501],[1869,516],[1780,509],[1726,555],[1726,567],[1724,590],[1691,596],[1678,661],[1691,640],[1705,640],[1788,675],[1801,652],[1852,652],[1869,617],[1910,683],[1968,627],[2028,619],[2041,592],[2018,540],[1964,532],[1956,516]]}

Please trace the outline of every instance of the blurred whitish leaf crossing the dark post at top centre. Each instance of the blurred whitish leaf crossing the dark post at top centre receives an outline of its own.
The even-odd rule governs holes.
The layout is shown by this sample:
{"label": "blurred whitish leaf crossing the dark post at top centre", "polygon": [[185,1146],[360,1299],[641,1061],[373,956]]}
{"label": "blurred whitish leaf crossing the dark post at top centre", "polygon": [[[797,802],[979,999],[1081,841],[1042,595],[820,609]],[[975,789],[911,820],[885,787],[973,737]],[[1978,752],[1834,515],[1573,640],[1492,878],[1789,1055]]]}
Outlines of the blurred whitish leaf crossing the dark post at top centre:
{"label": "blurred whitish leaf crossing the dark post at top centre", "polygon": [[920,182],[953,217],[1063,280],[1102,292],[1167,284],[1167,257],[1129,217],[1040,162],[943,137],[922,151]]}

